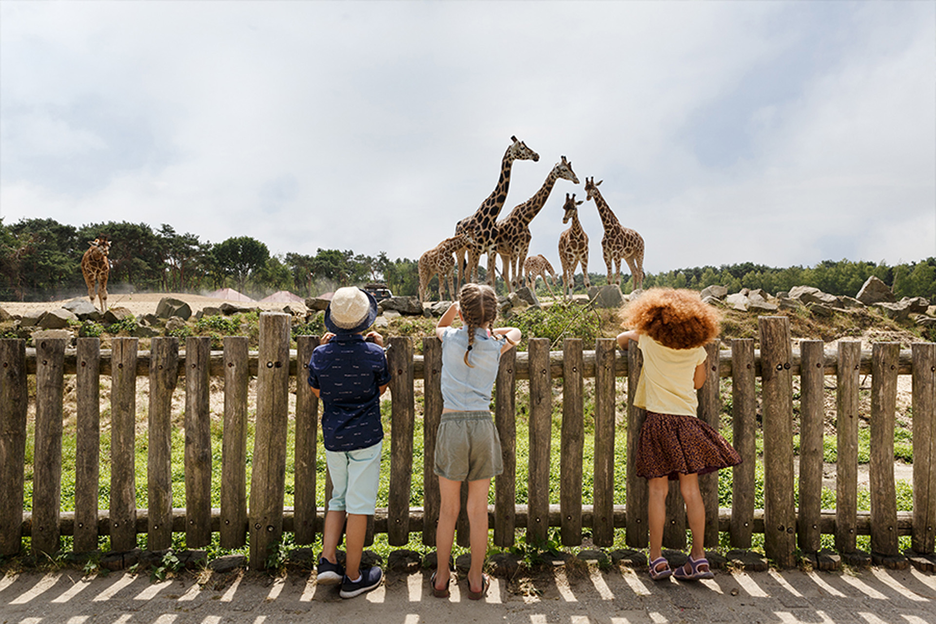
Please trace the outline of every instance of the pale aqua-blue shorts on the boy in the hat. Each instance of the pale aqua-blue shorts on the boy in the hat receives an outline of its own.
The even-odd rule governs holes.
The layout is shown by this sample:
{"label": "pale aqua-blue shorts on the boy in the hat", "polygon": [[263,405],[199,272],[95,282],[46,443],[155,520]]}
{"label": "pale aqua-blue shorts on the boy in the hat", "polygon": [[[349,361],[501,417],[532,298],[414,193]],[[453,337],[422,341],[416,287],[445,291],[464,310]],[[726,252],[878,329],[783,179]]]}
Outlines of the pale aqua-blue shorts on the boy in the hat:
{"label": "pale aqua-blue shorts on the boy in the hat", "polygon": [[355,451],[325,450],[331,476],[330,511],[373,515],[380,485],[380,451],[384,441]]}

